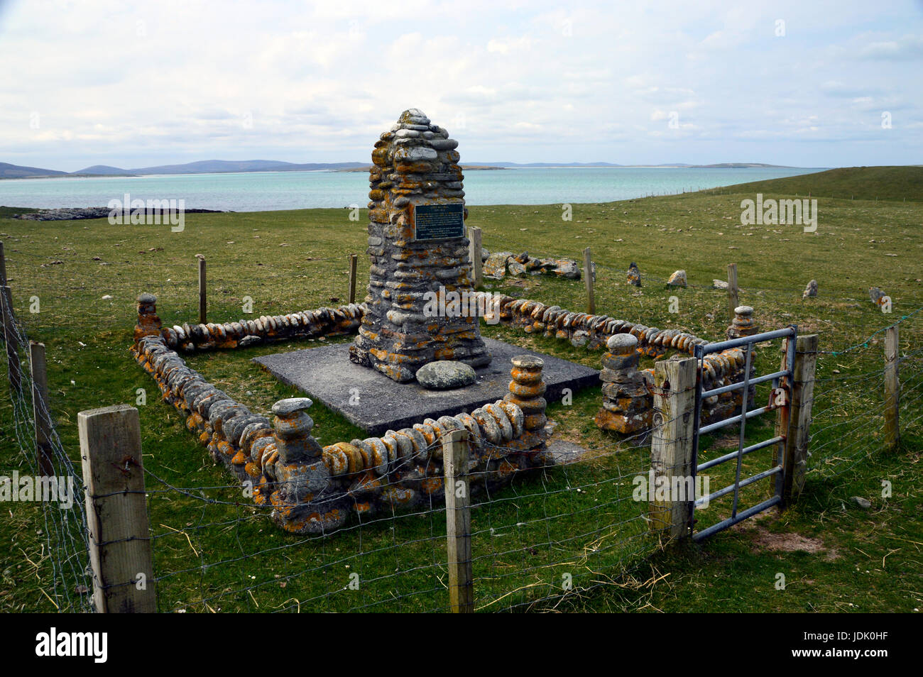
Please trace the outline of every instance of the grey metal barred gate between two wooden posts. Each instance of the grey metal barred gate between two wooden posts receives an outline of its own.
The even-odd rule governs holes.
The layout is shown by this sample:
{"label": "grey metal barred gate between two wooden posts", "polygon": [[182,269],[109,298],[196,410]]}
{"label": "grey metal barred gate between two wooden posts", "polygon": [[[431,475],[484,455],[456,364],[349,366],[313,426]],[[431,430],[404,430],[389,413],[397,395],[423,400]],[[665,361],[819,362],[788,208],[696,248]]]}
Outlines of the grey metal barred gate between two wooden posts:
{"label": "grey metal barred gate between two wooden posts", "polygon": [[[785,350],[785,355],[782,360],[782,367],[780,371],[774,372],[773,374],[766,374],[764,376],[757,376],[755,378],[750,378],[750,368],[753,360],[753,350],[754,346],[757,343],[763,341],[771,341],[775,339],[787,339],[787,346]],[[711,390],[702,390],[702,379],[701,375],[696,379],[696,388],[695,388],[695,422],[692,426],[692,473],[693,473],[693,486],[697,486],[696,477],[701,473],[702,470],[714,468],[715,466],[721,465],[728,461],[734,461],[737,464],[737,470],[735,473],[734,482],[729,484],[723,489],[719,489],[716,492],[710,493],[707,496],[701,496],[692,504],[691,510],[691,519],[690,524],[695,524],[695,508],[713,501],[716,498],[727,495],[728,493],[734,493],[734,503],[731,508],[731,517],[727,517],[717,524],[713,524],[707,529],[702,529],[701,531],[694,531],[692,534],[693,540],[702,540],[708,538],[713,533],[721,531],[722,529],[727,529],[738,522],[742,522],[748,517],[753,517],[758,513],[761,513],[763,510],[766,510],[773,505],[779,505],[783,501],[783,495],[785,491],[785,441],[788,437],[788,423],[789,423],[789,408],[791,406],[791,390],[793,382],[793,369],[795,364],[795,348],[797,342],[797,327],[786,327],[785,329],[777,329],[775,331],[765,332],[763,334],[754,334],[753,336],[741,337],[740,339],[730,339],[726,341],[721,341],[719,343],[708,343],[695,348],[695,358],[698,360],[699,374],[701,374],[702,360],[705,355],[721,352],[722,350],[729,350],[731,348],[743,348],[746,351],[746,361],[744,365],[744,377],[739,383],[730,384],[729,386],[716,387]],[[761,383],[766,383],[767,381],[772,381],[773,391],[770,395],[769,401],[765,406],[759,407],[757,409],[748,409],[749,405],[749,389],[750,386],[757,386]],[[731,416],[730,418],[724,419],[722,421],[717,421],[709,423],[708,425],[701,425],[701,402],[703,398],[711,398],[716,395],[722,395],[723,393],[731,392],[734,390],[742,390],[740,413],[736,416]],[[751,444],[749,446],[744,446],[744,439],[747,431],[747,422],[761,414],[764,414],[768,411],[776,411],[778,414],[777,425],[775,430],[775,435],[768,439],[762,440]],[[712,458],[703,463],[699,463],[699,437],[702,434],[708,434],[719,428],[724,428],[728,425],[734,425],[735,423],[740,424],[740,432],[737,439],[737,450],[732,451],[728,454],[725,454],[720,457]],[[747,478],[741,479],[740,471],[743,457],[764,449],[767,447],[772,447],[775,445],[776,451],[773,455],[773,466],[769,469],[763,470],[751,475]],[[753,484],[755,482],[765,480],[767,478],[775,477],[775,485],[773,497],[757,505],[752,505],[743,510],[738,510],[739,505],[739,493],[740,489]]]}

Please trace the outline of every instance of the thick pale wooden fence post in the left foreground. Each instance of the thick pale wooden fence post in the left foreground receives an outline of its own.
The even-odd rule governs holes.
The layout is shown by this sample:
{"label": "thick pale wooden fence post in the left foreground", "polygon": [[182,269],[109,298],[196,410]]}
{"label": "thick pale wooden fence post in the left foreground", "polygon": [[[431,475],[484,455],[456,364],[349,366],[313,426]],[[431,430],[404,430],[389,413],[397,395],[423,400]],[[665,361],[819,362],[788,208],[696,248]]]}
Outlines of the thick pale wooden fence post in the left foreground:
{"label": "thick pale wooden fence post in the left foreground", "polygon": [[116,405],[80,411],[77,426],[93,604],[100,613],[156,612],[138,410]]}

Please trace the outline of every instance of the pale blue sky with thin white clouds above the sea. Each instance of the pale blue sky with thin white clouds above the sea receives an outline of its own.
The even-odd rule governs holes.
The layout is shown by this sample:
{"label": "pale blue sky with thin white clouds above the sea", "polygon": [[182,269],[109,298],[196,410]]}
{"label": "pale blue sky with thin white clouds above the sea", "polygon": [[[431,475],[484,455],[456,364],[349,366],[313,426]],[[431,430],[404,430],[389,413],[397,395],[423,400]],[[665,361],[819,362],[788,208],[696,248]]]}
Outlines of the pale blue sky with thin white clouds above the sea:
{"label": "pale blue sky with thin white clouds above the sea", "polygon": [[923,162],[923,2],[0,0],[0,161]]}

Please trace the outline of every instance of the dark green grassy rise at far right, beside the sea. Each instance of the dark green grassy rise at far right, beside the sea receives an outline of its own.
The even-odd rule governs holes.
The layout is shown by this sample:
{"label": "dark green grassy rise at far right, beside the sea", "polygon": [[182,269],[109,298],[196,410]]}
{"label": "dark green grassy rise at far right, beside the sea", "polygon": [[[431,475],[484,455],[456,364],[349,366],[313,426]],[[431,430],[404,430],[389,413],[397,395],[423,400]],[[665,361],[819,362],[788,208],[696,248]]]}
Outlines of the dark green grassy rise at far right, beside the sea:
{"label": "dark green grassy rise at far right, beside the sea", "polygon": [[[857,200],[923,200],[923,165],[841,167],[782,179],[728,185],[723,193],[838,197]],[[704,191],[710,192],[710,191]]]}

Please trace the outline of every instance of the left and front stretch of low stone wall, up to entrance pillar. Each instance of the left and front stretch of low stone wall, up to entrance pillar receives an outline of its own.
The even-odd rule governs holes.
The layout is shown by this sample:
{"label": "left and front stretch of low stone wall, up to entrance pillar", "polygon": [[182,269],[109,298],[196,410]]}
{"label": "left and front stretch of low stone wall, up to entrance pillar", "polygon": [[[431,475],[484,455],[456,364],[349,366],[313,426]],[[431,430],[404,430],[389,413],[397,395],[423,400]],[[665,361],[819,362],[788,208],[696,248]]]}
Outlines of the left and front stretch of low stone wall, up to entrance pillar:
{"label": "left and front stretch of low stone wall, up to entrance pillar", "polygon": [[273,521],[286,531],[324,534],[351,516],[366,519],[444,500],[441,441],[452,430],[470,434],[473,493],[553,462],[545,449],[550,426],[540,359],[514,358],[509,395],[470,413],[322,447],[310,434],[310,399],[276,402],[271,420],[247,409],[167,345],[150,295],[138,309],[136,360],[211,457],[234,471],[258,505],[271,506]]}

